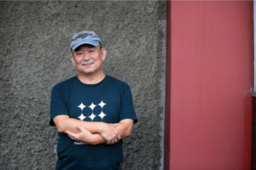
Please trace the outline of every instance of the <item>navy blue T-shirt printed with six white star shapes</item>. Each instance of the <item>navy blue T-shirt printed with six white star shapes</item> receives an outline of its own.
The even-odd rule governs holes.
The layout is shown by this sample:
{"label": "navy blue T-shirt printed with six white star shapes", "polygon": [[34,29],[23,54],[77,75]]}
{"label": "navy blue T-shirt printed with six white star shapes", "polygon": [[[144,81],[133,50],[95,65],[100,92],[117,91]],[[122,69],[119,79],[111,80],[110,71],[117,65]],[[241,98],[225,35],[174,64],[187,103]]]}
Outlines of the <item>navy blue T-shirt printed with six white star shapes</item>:
{"label": "navy blue T-shirt printed with six white star shapes", "polygon": [[[137,122],[130,87],[108,76],[96,84],[84,84],[78,77],[56,84],[51,92],[49,125],[55,126],[52,119],[59,115],[85,122]],[[56,169],[121,169],[122,144],[122,140],[116,144],[84,144],[59,133]]]}

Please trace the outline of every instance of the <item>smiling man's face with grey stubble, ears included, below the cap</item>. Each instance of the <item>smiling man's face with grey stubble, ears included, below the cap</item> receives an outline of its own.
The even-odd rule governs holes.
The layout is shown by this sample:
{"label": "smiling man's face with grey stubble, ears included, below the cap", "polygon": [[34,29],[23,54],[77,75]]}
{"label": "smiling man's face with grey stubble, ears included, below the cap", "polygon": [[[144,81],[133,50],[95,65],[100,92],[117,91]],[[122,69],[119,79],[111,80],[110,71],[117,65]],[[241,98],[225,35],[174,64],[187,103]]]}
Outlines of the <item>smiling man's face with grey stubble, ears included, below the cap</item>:
{"label": "smiling man's face with grey stubble, ears included, below the cap", "polygon": [[106,54],[105,48],[100,49],[100,43],[97,46],[83,44],[73,50],[71,60],[79,74],[96,74],[102,71],[102,61],[105,60]]}

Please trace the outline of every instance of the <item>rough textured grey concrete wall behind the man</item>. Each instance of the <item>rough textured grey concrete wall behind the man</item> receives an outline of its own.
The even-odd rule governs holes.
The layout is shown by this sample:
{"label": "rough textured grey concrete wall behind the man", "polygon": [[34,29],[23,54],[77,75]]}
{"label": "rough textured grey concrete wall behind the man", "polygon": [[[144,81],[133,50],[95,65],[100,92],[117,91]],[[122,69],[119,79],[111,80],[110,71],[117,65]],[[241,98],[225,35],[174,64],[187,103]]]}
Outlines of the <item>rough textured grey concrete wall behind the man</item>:
{"label": "rough textured grey concrete wall behind the man", "polygon": [[139,122],[124,141],[125,169],[160,169],[166,2],[0,2],[0,169],[54,169],[51,88],[77,74],[73,33],[96,31],[106,74],[131,86]]}

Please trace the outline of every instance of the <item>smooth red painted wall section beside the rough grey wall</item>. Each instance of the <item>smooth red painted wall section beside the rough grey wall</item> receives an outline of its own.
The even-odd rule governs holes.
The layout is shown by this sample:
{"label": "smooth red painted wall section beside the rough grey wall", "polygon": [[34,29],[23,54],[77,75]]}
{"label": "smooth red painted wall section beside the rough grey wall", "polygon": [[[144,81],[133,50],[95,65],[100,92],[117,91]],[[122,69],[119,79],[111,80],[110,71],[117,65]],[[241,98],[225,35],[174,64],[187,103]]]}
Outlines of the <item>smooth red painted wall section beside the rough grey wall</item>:
{"label": "smooth red painted wall section beside the rough grey wall", "polygon": [[165,169],[250,169],[253,3],[168,4]]}

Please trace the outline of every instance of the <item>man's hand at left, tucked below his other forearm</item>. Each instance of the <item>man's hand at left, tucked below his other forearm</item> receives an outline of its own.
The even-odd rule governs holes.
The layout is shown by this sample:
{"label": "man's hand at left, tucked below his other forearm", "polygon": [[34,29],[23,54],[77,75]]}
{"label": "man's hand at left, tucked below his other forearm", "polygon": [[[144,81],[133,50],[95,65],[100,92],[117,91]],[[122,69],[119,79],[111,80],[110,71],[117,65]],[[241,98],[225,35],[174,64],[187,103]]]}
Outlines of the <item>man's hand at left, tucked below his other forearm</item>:
{"label": "man's hand at left, tucked below his other forearm", "polygon": [[69,138],[79,141],[79,142],[84,142],[86,144],[93,144],[93,134],[90,133],[86,128],[81,127],[79,125],[76,125],[76,127],[79,129],[80,133],[71,133],[66,131],[67,135]]}

